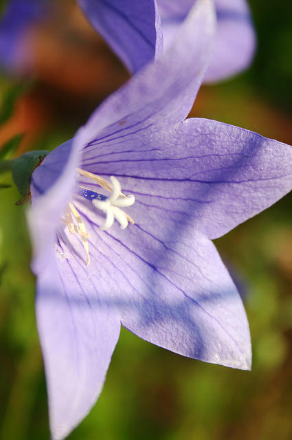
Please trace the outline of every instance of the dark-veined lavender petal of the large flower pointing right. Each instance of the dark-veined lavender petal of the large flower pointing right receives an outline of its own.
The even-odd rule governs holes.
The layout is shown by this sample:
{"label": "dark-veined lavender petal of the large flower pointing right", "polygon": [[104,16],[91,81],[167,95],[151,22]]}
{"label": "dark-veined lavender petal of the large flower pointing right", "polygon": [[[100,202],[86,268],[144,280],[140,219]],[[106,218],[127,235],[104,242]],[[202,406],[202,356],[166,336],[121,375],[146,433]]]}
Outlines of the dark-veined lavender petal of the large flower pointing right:
{"label": "dark-veined lavender petal of the large flower pointing right", "polygon": [[189,217],[210,239],[292,189],[291,146],[213,120],[188,119],[157,135],[101,136],[94,145],[85,148],[82,168],[115,175],[137,200]]}

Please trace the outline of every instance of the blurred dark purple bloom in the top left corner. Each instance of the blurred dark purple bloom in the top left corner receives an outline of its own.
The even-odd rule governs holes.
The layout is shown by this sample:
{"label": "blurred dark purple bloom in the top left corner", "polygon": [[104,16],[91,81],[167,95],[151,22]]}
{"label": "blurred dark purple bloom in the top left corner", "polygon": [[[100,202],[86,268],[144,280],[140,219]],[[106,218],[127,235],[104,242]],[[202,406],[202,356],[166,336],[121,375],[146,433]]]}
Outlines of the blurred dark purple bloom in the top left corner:
{"label": "blurred dark purple bloom in the top left corner", "polygon": [[46,13],[45,1],[8,1],[0,23],[1,68],[20,73],[30,69],[30,47],[25,36]]}

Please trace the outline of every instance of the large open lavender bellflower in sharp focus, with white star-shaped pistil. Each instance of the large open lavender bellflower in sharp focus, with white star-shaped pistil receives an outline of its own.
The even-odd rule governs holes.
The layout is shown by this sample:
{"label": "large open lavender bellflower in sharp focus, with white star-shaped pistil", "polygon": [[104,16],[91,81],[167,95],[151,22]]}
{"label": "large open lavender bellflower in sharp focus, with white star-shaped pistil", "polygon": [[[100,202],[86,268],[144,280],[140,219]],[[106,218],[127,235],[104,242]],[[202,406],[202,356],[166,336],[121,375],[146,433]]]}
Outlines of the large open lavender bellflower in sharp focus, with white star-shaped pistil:
{"label": "large open lavender bellflower in sharp focus, with white star-shaped pistil", "polygon": [[36,318],[54,440],[96,402],[121,324],[181,355],[250,368],[243,304],[211,239],[291,190],[292,149],[185,120],[214,28],[212,2],[197,1],[161,60],[32,175]]}

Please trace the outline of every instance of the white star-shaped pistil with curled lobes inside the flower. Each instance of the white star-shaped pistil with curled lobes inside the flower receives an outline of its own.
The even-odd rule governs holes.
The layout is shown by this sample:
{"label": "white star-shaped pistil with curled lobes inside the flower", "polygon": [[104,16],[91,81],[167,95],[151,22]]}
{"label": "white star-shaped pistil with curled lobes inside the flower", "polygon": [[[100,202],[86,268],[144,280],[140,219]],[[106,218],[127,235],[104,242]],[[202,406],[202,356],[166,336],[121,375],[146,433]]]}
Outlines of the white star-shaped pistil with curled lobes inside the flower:
{"label": "white star-shaped pistil with curled lobes inside the flower", "polygon": [[120,208],[127,208],[132,206],[135,202],[133,195],[125,196],[121,192],[120,182],[113,176],[110,177],[113,192],[106,200],[93,199],[93,206],[106,214],[106,221],[104,225],[100,227],[101,230],[107,230],[111,228],[115,219],[120,223],[121,229],[126,229],[128,222],[134,223],[134,221]]}

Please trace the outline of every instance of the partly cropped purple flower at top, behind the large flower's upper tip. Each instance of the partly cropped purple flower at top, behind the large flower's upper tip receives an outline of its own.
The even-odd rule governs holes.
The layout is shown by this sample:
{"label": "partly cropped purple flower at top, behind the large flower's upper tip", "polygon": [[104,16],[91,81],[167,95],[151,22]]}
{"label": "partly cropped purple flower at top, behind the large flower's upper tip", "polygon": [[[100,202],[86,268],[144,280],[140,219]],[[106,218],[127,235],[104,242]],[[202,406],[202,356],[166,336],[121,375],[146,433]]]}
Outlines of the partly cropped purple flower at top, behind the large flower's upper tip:
{"label": "partly cropped purple flower at top, behind the large flower's upper tip", "polygon": [[[161,56],[160,17],[164,47],[168,47],[196,1],[78,0],[94,28],[133,73],[153,57]],[[214,0],[214,5],[216,45],[204,78],[207,83],[223,80],[246,69],[256,46],[246,0]]]}

